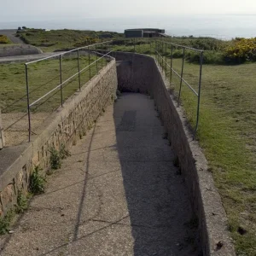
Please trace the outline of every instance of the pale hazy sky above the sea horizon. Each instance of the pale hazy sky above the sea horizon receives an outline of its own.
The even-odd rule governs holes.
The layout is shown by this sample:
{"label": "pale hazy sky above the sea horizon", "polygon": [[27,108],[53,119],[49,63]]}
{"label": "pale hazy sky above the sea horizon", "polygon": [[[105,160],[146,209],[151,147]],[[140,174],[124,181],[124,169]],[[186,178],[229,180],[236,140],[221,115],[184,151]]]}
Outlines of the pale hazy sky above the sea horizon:
{"label": "pale hazy sky above the sea horizon", "polygon": [[[256,15],[255,0],[0,0],[1,22],[146,15]],[[252,10],[255,10],[253,14]]]}

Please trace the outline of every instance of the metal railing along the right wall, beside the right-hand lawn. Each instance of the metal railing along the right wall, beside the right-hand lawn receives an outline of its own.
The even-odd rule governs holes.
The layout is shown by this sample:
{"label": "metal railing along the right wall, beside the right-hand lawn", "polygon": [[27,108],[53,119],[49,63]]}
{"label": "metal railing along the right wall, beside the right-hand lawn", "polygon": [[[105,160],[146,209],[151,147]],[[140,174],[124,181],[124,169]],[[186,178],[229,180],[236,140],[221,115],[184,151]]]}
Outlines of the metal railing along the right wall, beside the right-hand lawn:
{"label": "metal railing along the right wall, beside the right-hand lawn", "polygon": [[[169,47],[168,47],[169,46]],[[171,47],[170,47],[171,46]],[[170,65],[167,61],[167,49],[171,48],[171,55],[170,55]],[[182,67],[181,67],[181,73],[177,73],[177,71],[173,68],[173,50],[175,49],[182,49]],[[198,82],[198,90],[196,91],[191,84],[185,79],[183,79],[183,71],[184,71],[184,62],[185,62],[185,53],[186,50],[192,50],[195,52],[198,52],[200,55],[200,71],[199,71],[199,82]],[[172,84],[172,73],[174,73],[179,81],[179,90],[178,90],[178,96],[177,96],[177,106],[180,105],[181,100],[181,92],[182,92],[182,84],[186,84],[191,90],[195,96],[197,96],[197,108],[196,108],[196,121],[195,121],[195,130],[194,130],[194,139],[196,131],[198,130],[199,125],[199,117],[200,117],[200,102],[201,102],[201,77],[202,77],[202,65],[203,65],[203,54],[204,51],[201,49],[195,49],[188,46],[183,46],[179,44],[172,44],[170,42],[164,42],[164,41],[155,41],[155,60],[160,64],[160,67],[162,68],[162,71],[166,73],[167,78],[167,67],[170,69],[170,84]]]}

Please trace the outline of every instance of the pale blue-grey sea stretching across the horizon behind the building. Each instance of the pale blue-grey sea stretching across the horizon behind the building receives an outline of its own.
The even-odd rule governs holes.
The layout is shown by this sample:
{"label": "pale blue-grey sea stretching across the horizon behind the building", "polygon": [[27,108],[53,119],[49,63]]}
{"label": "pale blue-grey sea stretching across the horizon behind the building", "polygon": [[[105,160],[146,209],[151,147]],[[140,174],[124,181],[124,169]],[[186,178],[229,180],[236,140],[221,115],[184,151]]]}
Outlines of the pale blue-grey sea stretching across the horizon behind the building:
{"label": "pale blue-grey sea stretching across the horizon behind the building", "polygon": [[0,29],[27,26],[45,29],[79,29],[124,32],[127,28],[166,29],[171,36],[208,36],[219,39],[255,38],[256,15],[158,15],[119,18],[58,18],[39,20],[0,20]]}

